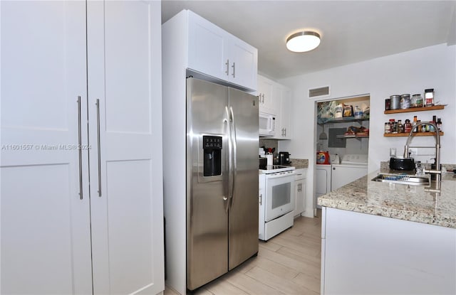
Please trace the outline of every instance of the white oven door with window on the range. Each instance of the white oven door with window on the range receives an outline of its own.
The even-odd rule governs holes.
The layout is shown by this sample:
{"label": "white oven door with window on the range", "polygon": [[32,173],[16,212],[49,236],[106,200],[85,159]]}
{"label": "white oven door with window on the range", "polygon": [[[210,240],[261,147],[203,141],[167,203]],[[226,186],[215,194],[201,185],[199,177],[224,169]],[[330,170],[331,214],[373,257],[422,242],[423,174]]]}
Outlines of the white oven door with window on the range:
{"label": "white oven door with window on the range", "polygon": [[294,174],[266,175],[265,221],[294,210]]}

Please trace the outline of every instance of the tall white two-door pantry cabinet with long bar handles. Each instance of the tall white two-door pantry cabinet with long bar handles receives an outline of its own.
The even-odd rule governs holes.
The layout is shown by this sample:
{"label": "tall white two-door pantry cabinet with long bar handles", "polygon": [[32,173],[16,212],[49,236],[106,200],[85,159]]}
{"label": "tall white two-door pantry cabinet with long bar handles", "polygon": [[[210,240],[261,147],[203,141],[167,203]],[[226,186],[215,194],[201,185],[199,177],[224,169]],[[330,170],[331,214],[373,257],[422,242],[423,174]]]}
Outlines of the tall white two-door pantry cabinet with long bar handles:
{"label": "tall white two-door pantry cabinet with long bar handles", "polygon": [[160,293],[160,1],[0,10],[0,293]]}

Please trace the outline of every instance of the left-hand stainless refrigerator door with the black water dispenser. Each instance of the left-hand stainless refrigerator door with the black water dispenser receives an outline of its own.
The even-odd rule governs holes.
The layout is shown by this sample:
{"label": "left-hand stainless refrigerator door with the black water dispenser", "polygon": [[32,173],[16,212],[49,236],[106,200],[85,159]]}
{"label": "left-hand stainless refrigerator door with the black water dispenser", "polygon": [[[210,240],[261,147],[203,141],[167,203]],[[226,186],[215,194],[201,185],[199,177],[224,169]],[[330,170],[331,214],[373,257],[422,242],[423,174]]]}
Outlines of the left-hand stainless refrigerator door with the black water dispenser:
{"label": "left-hand stainless refrigerator door with the black water dispenser", "polygon": [[[227,87],[187,78],[187,289],[190,290],[228,271],[227,106]],[[203,136],[222,139],[221,168],[212,169],[209,176],[204,176]],[[212,161],[212,156],[206,160]]]}

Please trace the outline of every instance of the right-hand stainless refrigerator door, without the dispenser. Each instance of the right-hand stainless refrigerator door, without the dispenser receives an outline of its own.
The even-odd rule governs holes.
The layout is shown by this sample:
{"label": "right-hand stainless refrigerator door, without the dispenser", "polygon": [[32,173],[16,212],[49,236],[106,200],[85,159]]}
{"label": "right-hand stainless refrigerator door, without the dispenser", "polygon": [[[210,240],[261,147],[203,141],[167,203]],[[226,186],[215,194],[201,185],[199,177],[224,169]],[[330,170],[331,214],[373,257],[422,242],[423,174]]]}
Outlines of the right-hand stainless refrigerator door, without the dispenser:
{"label": "right-hand stainless refrigerator door, without the dispenser", "polygon": [[258,252],[257,97],[229,88],[234,182],[229,209],[229,269]]}

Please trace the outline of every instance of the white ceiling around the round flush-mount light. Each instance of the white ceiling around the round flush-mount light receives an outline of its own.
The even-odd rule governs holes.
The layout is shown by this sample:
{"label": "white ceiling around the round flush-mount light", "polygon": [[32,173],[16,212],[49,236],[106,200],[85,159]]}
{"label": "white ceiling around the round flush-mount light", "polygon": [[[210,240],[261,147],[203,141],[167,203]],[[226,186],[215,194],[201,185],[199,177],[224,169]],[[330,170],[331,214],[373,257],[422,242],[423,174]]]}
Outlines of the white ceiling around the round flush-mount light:
{"label": "white ceiling around the round flush-mount light", "polygon": [[[456,43],[454,1],[162,1],[162,22],[182,9],[258,48],[273,79],[316,72],[441,43]],[[320,33],[307,53],[286,49],[304,28]],[[417,70],[420,68],[417,65]]]}

